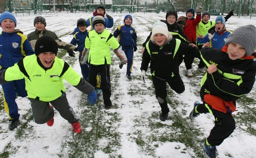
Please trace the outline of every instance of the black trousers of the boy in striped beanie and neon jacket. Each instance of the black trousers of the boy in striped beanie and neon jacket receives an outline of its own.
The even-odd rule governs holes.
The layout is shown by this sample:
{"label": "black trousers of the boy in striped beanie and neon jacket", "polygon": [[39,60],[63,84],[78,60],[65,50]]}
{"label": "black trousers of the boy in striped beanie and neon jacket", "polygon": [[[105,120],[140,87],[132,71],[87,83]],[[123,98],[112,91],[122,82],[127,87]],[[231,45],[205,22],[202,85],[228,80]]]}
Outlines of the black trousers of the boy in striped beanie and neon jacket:
{"label": "black trousers of the boy in striped beanie and neon jacket", "polygon": [[111,96],[111,83],[110,83],[110,65],[93,65],[90,64],[89,69],[89,80],[88,82],[92,85],[96,85],[96,76],[100,73],[100,88],[103,94],[103,101],[105,106],[111,106],[112,102],[110,100]]}

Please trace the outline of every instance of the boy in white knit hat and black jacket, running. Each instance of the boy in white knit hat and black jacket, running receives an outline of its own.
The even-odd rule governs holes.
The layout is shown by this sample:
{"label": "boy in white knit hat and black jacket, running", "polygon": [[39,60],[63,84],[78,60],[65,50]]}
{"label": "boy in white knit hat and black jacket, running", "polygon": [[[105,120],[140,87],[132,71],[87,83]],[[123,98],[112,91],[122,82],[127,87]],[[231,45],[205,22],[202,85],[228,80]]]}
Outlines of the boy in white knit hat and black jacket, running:
{"label": "boy in white knit hat and black jacket, running", "polygon": [[190,55],[198,58],[200,53],[196,47],[188,46],[181,43],[179,39],[172,38],[166,23],[161,21],[154,23],[150,39],[142,54],[141,79],[145,83],[146,71],[150,62],[156,99],[162,111],[160,120],[166,121],[170,111],[166,100],[166,83],[178,94],[185,90],[179,74],[178,56],[188,55],[189,52]]}

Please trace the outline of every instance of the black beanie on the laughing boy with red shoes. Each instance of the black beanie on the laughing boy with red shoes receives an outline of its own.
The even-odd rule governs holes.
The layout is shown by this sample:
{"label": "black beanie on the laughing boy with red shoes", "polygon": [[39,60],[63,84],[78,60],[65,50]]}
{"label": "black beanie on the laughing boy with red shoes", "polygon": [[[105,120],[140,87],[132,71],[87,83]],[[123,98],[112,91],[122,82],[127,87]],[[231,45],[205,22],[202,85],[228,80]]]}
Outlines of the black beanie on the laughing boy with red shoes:
{"label": "black beanie on the laughing boy with red shoes", "polygon": [[58,44],[50,36],[42,36],[36,41],[35,55],[38,56],[44,52],[52,52],[55,55],[58,53]]}

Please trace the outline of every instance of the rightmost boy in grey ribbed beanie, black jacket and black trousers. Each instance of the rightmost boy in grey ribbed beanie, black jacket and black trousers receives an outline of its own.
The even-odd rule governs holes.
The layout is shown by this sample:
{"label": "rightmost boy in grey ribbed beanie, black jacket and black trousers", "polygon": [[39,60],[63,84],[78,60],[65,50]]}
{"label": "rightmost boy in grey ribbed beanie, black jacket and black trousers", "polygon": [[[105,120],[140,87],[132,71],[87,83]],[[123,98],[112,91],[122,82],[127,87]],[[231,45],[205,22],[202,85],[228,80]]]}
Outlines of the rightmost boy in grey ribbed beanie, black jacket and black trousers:
{"label": "rightmost boy in grey ribbed beanie, black jacket and black trousers", "polygon": [[[209,43],[206,43],[209,46]],[[238,27],[228,36],[222,49],[204,47],[200,50],[207,72],[201,81],[202,103],[194,102],[189,118],[200,113],[214,115],[214,127],[204,141],[206,158],[216,158],[216,146],[233,133],[236,100],[248,94],[254,85],[256,63],[252,53],[256,47],[254,25]]]}

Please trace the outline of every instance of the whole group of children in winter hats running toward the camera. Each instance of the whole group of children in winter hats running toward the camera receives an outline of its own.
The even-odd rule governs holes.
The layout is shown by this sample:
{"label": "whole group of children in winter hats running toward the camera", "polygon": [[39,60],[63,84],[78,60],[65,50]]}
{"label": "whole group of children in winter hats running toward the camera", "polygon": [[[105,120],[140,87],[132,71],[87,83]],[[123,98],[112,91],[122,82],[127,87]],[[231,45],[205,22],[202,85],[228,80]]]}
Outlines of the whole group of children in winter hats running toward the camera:
{"label": "whole group of children in winter hats running toward the camera", "polygon": [[[103,10],[102,7],[97,9]],[[187,70],[191,70],[195,57],[200,59],[198,68],[206,66],[200,90],[202,103],[194,102],[189,118],[193,120],[200,113],[214,115],[215,125],[204,141],[203,148],[207,158],[216,158],[216,146],[235,129],[232,112],[236,109],[236,100],[248,94],[254,85],[256,63],[252,54],[256,47],[256,28],[254,25],[245,25],[230,34],[225,22],[233,15],[233,11],[226,19],[217,16],[215,23],[209,21],[208,12],[203,12],[202,16],[201,12],[202,7],[198,5],[196,18],[192,8],[187,10],[186,17],[178,18],[177,12],[170,10],[166,13],[166,20],[154,23],[152,32],[143,44],[140,70],[141,79],[145,82],[150,63],[156,99],[162,111],[160,120],[166,121],[170,111],[166,100],[166,83],[176,93],[184,92],[185,86],[179,74],[183,55]],[[54,107],[72,124],[74,131],[80,133],[79,119],[66,99],[62,79],[88,94],[87,101],[93,105],[97,100],[94,90],[96,76],[100,74],[105,109],[111,108],[110,46],[120,60],[120,68],[127,63],[126,76],[130,79],[133,53],[137,50],[137,35],[131,27],[131,15],[126,15],[124,25],[118,26],[112,34],[105,29],[106,19],[111,21],[112,18],[102,16],[105,10],[95,14],[90,22],[94,28],[91,31],[86,29],[89,25],[86,20],[78,19],[78,32],[74,34],[71,44],[62,42],[55,33],[46,30],[46,21],[41,16],[34,19],[36,30],[28,34],[27,38],[15,29],[16,19],[12,14],[4,12],[0,15],[3,29],[0,35],[0,84],[4,91],[4,106],[11,121],[10,130],[19,124],[15,102],[17,92],[18,96],[28,96],[36,123],[52,126]],[[115,37],[118,36],[117,41]],[[7,43],[6,38],[12,42]],[[70,56],[74,56],[73,51],[80,52],[82,78],[64,60],[56,57],[58,48],[66,49]],[[8,62],[10,60],[7,58],[12,58],[12,62]]]}

